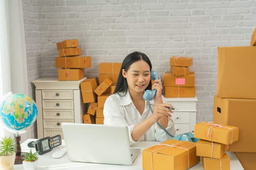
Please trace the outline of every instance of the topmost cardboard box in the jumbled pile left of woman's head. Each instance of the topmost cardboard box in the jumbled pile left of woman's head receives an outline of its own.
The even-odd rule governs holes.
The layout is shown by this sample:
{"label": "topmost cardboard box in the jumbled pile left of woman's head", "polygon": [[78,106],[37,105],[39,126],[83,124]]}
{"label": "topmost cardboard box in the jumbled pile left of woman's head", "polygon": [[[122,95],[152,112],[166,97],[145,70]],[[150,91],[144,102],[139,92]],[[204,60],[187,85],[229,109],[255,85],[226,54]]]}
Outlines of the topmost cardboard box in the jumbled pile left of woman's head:
{"label": "topmost cardboard box in the jumbled pile left of woman's head", "polygon": [[99,74],[119,74],[122,63],[99,63]]}

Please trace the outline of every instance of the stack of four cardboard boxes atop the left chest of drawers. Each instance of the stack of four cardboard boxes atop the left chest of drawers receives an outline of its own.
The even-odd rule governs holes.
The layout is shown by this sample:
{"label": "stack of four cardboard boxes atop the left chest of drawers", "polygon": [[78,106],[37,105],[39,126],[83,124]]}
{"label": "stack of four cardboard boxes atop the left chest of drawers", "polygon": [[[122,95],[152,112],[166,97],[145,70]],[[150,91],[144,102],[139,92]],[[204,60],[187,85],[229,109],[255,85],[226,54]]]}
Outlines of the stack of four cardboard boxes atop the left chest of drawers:
{"label": "stack of four cardboard boxes atop the left chest of drawers", "polygon": [[92,66],[91,57],[82,57],[78,39],[68,39],[56,43],[59,57],[55,57],[59,81],[78,81],[85,77],[84,68]]}

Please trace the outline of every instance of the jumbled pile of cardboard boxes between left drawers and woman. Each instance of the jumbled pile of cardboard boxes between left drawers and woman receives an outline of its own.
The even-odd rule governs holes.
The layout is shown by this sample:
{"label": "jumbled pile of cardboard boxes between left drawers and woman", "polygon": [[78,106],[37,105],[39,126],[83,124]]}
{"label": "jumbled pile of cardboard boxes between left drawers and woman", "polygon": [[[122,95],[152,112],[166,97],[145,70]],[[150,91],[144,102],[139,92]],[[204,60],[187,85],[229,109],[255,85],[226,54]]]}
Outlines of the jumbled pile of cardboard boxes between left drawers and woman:
{"label": "jumbled pile of cardboard boxes between left drawers and woman", "polygon": [[[85,123],[103,124],[103,107],[106,99],[115,90],[122,63],[100,63],[99,83],[97,77],[81,82],[84,103],[90,103],[88,112],[83,115]],[[95,121],[93,121],[95,119]]]}

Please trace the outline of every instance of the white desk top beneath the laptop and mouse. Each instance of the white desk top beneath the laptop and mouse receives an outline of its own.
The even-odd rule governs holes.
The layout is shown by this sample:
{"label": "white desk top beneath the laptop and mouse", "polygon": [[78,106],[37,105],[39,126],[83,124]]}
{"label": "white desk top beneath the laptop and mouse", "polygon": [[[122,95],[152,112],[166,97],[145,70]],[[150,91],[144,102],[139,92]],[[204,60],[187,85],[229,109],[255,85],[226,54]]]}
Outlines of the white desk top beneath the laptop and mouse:
{"label": "white desk top beneath the laptop and mouse", "polygon": [[[27,139],[21,144],[22,152],[29,152],[30,148],[27,147],[27,143],[30,141],[36,141],[36,139]],[[133,148],[146,149],[154,144],[159,142],[139,142],[132,145]],[[59,159],[52,158],[52,153],[56,150],[65,149],[65,140],[61,146],[54,148],[51,152],[44,155],[38,155],[39,162],[37,170],[142,170],[142,154],[140,154],[132,166],[121,166],[121,165],[110,165],[110,164],[99,164],[99,163],[81,163],[81,162],[72,162],[68,160],[67,154]],[[36,150],[32,148],[34,153]],[[230,170],[243,170],[240,162],[238,161],[235,153],[228,152],[230,157]],[[14,165],[13,170],[24,170],[22,164]],[[191,167],[189,170],[204,170],[202,163]]]}

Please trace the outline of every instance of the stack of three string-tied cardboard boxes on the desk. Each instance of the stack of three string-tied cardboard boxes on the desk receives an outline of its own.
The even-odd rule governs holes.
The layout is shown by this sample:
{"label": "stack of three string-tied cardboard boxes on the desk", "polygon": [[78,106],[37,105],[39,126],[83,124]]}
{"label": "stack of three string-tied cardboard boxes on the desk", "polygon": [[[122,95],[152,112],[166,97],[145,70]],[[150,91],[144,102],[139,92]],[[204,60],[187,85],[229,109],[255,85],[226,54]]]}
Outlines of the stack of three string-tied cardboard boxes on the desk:
{"label": "stack of three string-tied cardboard boxes on the desk", "polygon": [[226,154],[229,144],[238,141],[239,128],[200,122],[195,124],[194,137],[196,155],[202,157],[204,170],[230,170],[230,159]]}

